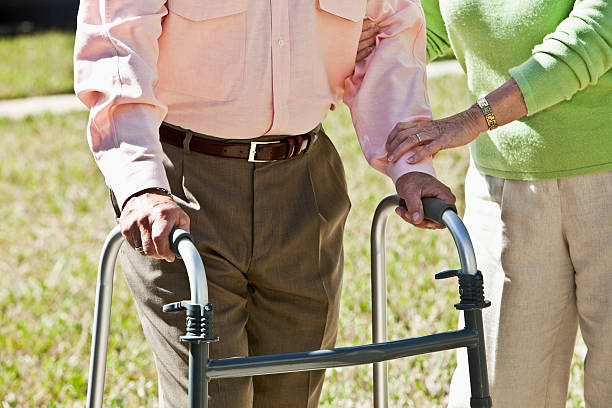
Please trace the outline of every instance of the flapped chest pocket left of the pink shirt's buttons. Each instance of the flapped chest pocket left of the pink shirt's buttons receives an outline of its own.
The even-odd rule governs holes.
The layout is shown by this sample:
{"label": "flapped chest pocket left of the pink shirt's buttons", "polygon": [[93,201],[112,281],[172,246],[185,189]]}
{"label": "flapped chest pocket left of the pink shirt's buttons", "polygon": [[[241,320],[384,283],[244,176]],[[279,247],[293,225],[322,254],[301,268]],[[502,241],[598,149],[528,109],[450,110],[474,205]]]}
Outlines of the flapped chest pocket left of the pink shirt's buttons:
{"label": "flapped chest pocket left of the pink shirt's buttons", "polygon": [[245,74],[248,0],[169,0],[159,38],[158,87],[229,101]]}

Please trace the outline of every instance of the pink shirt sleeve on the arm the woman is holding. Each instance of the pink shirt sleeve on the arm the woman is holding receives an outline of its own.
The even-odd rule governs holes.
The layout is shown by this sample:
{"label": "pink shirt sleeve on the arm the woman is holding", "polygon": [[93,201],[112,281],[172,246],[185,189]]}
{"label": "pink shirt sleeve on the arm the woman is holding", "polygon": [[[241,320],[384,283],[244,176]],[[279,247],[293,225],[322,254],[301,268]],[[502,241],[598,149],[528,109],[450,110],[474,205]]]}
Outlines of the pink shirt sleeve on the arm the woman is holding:
{"label": "pink shirt sleeve on the arm the woman is holding", "polygon": [[418,1],[370,0],[367,18],[380,27],[373,53],[347,79],[344,101],[364,155],[375,169],[397,179],[408,172],[435,175],[431,158],[388,163],[385,144],[399,122],[431,120],[425,71],[426,32]]}

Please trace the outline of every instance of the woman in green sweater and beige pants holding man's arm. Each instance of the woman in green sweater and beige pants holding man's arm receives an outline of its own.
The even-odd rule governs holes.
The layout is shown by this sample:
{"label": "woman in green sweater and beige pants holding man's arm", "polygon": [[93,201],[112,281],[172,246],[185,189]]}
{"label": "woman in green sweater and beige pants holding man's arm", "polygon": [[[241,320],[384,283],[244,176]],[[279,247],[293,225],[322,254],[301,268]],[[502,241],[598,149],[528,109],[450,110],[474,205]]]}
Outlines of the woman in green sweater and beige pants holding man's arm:
{"label": "woman in green sweater and beige pants holding man's arm", "polygon": [[[399,123],[388,159],[471,142],[465,222],[493,302],[484,315],[493,404],[564,407],[580,327],[586,406],[609,407],[612,2],[422,4],[428,59],[452,50],[476,103]],[[359,58],[375,32],[364,24]],[[469,406],[466,359],[460,352],[450,407]]]}

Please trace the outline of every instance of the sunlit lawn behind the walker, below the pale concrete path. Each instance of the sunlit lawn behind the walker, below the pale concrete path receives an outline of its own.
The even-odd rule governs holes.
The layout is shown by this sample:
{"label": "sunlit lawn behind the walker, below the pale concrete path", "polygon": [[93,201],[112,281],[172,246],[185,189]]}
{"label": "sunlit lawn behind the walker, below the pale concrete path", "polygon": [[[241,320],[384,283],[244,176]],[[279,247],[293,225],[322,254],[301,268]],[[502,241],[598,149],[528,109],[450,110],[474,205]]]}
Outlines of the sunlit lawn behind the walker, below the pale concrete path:
{"label": "sunlit lawn behind the walker, below the pale concrete path", "polygon": [[[437,116],[461,108],[465,84],[430,84]],[[81,407],[87,389],[96,267],[114,225],[107,190],[84,137],[86,113],[0,119],[0,406]],[[345,107],[326,129],[345,162],[353,202],[345,234],[346,268],[339,346],[368,343],[369,229],[376,204],[393,186],[368,168]],[[443,152],[440,177],[463,209],[466,149]],[[458,266],[446,231],[418,231],[391,217],[387,228],[391,338],[455,328],[453,280],[434,273]],[[115,279],[105,406],[156,405],[156,374],[127,286]],[[446,402],[454,354],[391,362],[392,407],[439,407]],[[582,363],[574,361],[570,403],[583,405]],[[321,405],[371,406],[369,366],[328,370]]]}

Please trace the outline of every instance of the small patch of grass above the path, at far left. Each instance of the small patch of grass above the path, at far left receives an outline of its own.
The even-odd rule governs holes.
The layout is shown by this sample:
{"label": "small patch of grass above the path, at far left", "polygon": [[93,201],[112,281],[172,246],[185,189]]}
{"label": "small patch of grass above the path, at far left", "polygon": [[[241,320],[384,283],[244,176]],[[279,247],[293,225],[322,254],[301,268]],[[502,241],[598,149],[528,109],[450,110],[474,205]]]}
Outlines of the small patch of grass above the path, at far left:
{"label": "small patch of grass above the path, at far left", "polygon": [[0,99],[73,92],[74,34],[0,37]]}

